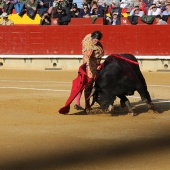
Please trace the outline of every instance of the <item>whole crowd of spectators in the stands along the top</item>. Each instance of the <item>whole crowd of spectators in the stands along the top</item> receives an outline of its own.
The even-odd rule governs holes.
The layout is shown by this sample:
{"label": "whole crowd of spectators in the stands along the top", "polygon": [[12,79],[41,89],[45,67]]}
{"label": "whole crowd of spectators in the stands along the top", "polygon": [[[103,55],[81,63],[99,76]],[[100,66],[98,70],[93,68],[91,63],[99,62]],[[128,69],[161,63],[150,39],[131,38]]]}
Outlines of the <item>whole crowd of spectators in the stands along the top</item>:
{"label": "whole crowd of spectators in the stands along the top", "polygon": [[124,13],[132,18],[157,16],[157,20],[166,22],[170,0],[0,0],[0,15],[10,15],[13,9],[19,16],[27,13],[31,19],[38,13],[40,25],[51,25],[55,18],[59,25],[67,25],[71,18],[91,18],[94,23],[99,17],[104,18],[104,24],[120,25]]}

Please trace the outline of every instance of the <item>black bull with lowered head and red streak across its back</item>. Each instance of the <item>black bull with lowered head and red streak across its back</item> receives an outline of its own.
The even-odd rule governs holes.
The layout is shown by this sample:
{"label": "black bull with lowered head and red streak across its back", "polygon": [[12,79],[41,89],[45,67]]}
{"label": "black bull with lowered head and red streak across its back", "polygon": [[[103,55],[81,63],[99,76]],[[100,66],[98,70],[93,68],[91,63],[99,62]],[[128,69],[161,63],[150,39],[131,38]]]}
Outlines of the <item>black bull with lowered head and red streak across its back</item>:
{"label": "black bull with lowered head and red streak across its back", "polygon": [[117,96],[121,99],[121,105],[126,105],[129,112],[133,112],[126,95],[133,95],[134,91],[140,94],[142,101],[146,102],[150,109],[154,107],[137,59],[131,54],[108,56],[92,91],[92,105],[97,102],[104,111],[113,105]]}

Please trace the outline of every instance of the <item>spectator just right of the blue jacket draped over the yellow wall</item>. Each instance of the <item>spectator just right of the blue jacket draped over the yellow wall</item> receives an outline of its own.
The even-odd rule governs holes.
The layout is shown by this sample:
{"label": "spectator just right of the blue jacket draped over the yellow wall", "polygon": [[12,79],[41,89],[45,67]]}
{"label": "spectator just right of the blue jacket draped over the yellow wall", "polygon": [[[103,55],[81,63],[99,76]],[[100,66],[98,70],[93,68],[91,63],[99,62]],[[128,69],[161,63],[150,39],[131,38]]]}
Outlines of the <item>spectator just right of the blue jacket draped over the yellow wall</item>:
{"label": "spectator just right of the blue jacket draped over the yellow wall", "polygon": [[27,15],[31,19],[34,19],[37,13],[37,3],[37,0],[27,0],[25,3],[25,7],[27,8]]}

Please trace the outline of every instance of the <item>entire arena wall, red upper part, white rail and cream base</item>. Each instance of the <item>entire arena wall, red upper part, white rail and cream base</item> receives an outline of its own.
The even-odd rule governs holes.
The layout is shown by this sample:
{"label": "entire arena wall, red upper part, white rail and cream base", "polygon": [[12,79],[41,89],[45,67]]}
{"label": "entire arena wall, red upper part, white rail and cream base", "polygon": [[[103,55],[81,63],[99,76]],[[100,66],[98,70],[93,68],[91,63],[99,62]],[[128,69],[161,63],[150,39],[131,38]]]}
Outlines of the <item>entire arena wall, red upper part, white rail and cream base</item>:
{"label": "entire arena wall, red upper part, white rail and cream base", "polygon": [[3,26],[0,32],[1,69],[77,69],[81,41],[95,30],[103,33],[105,57],[134,54],[142,70],[170,68],[169,25]]}

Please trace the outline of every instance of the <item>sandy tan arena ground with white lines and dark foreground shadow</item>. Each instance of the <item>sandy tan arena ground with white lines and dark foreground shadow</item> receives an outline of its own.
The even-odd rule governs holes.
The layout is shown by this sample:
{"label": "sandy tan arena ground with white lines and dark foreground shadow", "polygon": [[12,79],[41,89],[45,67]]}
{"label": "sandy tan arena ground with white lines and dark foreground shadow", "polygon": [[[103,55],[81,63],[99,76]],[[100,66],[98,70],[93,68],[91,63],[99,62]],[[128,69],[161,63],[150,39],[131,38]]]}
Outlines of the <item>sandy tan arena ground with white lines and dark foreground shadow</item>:
{"label": "sandy tan arena ground with white lines and dark foreground shadow", "polygon": [[59,114],[74,71],[0,70],[0,170],[169,170],[170,73],[143,74],[158,113],[135,93],[132,117]]}

